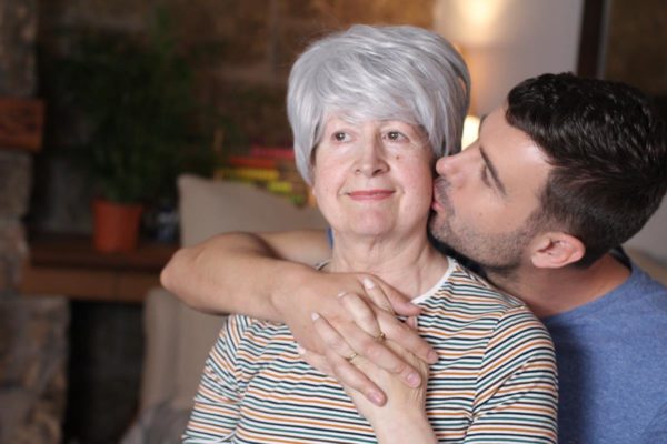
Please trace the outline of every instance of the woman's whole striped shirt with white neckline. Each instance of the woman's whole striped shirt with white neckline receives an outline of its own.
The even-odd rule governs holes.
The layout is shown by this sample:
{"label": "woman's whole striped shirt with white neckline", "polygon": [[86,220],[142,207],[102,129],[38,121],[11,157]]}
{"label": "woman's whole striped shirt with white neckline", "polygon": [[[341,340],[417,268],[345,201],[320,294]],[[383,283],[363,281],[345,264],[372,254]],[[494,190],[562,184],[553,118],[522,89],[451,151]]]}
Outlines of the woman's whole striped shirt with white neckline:
{"label": "woman's whole striped shirt with white neckline", "polygon": [[[426,410],[440,443],[555,443],[556,360],[518,300],[449,260],[414,302],[439,355]],[[286,325],[232,315],[207,360],[186,443],[375,443],[336,380],[303,362]]]}

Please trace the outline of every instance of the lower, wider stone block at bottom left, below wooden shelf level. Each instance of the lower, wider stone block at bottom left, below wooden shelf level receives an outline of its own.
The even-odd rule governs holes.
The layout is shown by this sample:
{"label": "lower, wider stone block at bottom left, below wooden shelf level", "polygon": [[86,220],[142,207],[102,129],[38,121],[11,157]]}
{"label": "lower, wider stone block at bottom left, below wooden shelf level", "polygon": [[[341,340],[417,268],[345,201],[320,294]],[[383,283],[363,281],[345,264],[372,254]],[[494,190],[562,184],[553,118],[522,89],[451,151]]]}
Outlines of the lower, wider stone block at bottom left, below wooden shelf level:
{"label": "lower, wider stone block at bottom left, below wooden shelf level", "polygon": [[63,299],[0,301],[0,444],[61,442],[68,322]]}

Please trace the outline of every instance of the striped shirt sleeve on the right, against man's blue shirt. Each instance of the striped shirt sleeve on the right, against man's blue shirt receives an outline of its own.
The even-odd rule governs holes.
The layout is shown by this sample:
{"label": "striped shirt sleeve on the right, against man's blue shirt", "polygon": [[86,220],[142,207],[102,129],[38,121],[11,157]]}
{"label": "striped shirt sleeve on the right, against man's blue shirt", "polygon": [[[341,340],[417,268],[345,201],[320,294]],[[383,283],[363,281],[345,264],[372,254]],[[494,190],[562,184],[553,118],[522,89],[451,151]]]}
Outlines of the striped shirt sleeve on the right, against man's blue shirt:
{"label": "striped shirt sleeve on the right, against man's blue shirt", "polygon": [[558,381],[554,343],[526,307],[508,310],[489,337],[466,443],[556,443]]}

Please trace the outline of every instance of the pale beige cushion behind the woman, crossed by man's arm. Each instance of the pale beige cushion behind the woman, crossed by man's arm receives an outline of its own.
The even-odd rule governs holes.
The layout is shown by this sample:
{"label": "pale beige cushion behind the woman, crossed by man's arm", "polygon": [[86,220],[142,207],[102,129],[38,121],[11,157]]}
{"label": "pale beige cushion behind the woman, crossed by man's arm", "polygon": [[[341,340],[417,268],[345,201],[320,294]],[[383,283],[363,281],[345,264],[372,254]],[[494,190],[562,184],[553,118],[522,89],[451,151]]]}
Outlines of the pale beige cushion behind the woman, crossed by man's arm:
{"label": "pale beige cushion behind the woman, crossed by man's arm", "polygon": [[[195,175],[178,179],[181,243],[193,245],[229,231],[280,231],[326,228],[319,210],[297,208],[286,198],[251,184],[225,182]],[[222,297],[223,295],[221,295]],[[206,356],[225,321],[179,304],[171,346],[175,367],[176,407],[191,407]]]}

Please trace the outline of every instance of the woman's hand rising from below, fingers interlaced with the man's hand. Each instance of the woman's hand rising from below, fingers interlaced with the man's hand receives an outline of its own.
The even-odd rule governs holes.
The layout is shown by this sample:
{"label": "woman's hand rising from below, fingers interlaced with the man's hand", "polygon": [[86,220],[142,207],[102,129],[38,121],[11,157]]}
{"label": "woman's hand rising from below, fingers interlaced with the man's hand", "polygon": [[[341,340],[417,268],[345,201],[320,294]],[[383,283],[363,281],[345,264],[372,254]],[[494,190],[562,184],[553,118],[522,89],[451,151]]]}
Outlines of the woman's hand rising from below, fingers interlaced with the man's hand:
{"label": "woman's hand rising from below, fingers interlaced with the man's hand", "polygon": [[[409,323],[414,326],[415,319],[411,319]],[[322,317],[316,317],[315,326],[318,335],[320,335],[325,342],[331,343],[339,341],[336,330],[334,330]],[[396,356],[416,369],[424,383],[416,387],[408,386],[395,374],[379,367],[368,359],[358,355],[351,351],[351,349],[347,359],[341,357],[338,352],[332,349],[328,349],[326,359],[329,362],[336,363],[335,366],[341,365],[344,362],[355,366],[364,372],[374,384],[386,393],[386,404],[384,406],[378,406],[369,402],[362,393],[346,385],[341,381],[342,386],[350,395],[359,413],[364,415],[374,427],[378,442],[382,444],[437,442],[425,411],[428,364],[395,342],[384,339],[381,335],[379,339],[376,339],[376,341],[384,343],[384,345],[391,350]],[[321,356],[316,356],[308,352],[303,353],[303,357],[315,366],[319,366],[322,363]],[[346,367],[338,367],[337,373],[342,372],[342,374],[345,374],[344,369]]]}

